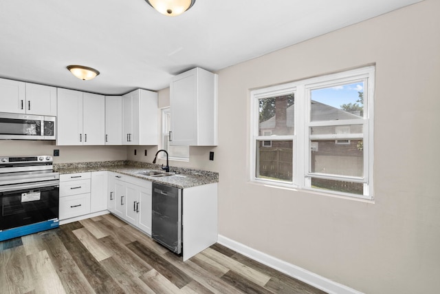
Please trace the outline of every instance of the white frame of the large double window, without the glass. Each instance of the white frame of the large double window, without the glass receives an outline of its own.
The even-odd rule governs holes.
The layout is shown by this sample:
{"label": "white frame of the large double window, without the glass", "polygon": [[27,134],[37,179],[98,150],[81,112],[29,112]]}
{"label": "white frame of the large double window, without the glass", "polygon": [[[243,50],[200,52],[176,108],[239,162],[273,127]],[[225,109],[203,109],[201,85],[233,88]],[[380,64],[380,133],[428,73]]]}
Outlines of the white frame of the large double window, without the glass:
{"label": "white frame of the large double window, without the glass", "polygon": [[[311,121],[310,105],[311,90],[333,87],[336,85],[345,85],[358,81],[364,82],[364,117],[353,120],[329,120],[329,121]],[[361,198],[373,200],[373,101],[375,88],[375,66],[362,67],[356,70],[317,76],[307,78],[302,81],[285,83],[272,87],[265,87],[250,92],[250,110],[251,110],[251,132],[250,132],[250,180],[263,184],[270,184],[280,187],[289,187],[293,189],[305,189],[316,191],[329,195],[348,196],[350,198]],[[259,134],[259,99],[282,96],[283,94],[295,94],[295,114],[294,114],[294,132],[291,136],[261,136]],[[309,127],[331,126],[331,125],[362,125],[362,134],[331,134],[331,135],[311,135],[309,136]],[[364,176],[329,176],[327,174],[316,174],[309,172],[309,162],[311,156],[312,139],[331,139],[351,140],[362,138],[364,148]],[[283,182],[281,180],[266,180],[256,178],[257,154],[256,147],[260,140],[292,140],[293,141],[293,165],[292,182]],[[327,178],[329,180],[343,180],[351,182],[361,182],[364,187],[363,195],[344,193],[340,191],[327,191],[311,187],[311,176],[314,178]]]}

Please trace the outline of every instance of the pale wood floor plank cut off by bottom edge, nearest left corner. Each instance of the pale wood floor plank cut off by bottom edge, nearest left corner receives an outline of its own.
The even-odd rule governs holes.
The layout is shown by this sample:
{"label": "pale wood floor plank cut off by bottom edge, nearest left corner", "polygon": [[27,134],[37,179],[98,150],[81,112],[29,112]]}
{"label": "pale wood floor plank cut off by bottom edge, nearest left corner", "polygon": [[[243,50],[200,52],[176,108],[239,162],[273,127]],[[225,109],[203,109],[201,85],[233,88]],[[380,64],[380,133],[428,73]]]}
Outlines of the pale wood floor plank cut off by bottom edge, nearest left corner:
{"label": "pale wood floor plank cut off by bottom edge, nearest left corner", "polygon": [[47,251],[28,255],[34,278],[34,291],[36,293],[66,293],[60,278],[56,274]]}

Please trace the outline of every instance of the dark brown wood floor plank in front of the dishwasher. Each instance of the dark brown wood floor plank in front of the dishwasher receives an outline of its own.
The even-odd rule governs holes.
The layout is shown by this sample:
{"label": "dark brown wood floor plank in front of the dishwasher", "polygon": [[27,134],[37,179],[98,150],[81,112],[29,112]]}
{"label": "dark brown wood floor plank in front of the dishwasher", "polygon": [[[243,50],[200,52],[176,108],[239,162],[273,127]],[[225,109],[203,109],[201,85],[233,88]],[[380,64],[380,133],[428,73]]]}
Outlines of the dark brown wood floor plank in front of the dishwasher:
{"label": "dark brown wood floor plank in front of the dishwasher", "polygon": [[126,246],[146,263],[153,266],[158,273],[166,277],[166,279],[175,284],[178,288],[181,288],[192,281],[186,273],[177,269],[173,264],[166,262],[162,256],[158,255],[155,251],[144,244],[135,241]]}

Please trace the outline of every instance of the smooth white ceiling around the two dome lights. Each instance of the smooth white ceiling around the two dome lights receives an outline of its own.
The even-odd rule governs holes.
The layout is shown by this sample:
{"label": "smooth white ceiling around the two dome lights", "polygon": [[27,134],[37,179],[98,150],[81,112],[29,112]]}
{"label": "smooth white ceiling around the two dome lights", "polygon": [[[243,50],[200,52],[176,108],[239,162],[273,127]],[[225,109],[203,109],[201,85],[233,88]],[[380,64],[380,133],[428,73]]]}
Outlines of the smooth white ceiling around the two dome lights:
{"label": "smooth white ceiling around the two dome lights", "polygon": [[[144,0],[1,0],[0,77],[100,94],[161,90],[420,0],[197,0],[179,17]],[[79,64],[100,75],[81,81]]]}

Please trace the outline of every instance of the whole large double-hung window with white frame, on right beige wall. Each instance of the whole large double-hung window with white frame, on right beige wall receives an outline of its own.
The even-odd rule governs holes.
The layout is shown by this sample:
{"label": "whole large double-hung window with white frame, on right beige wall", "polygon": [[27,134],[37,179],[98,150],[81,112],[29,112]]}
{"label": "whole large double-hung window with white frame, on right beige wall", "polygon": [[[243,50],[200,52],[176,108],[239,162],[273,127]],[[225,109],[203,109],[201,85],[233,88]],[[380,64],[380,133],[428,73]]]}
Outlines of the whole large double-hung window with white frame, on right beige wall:
{"label": "whole large double-hung window with white frame, on right beige wall", "polygon": [[373,199],[375,68],[251,92],[251,180]]}

